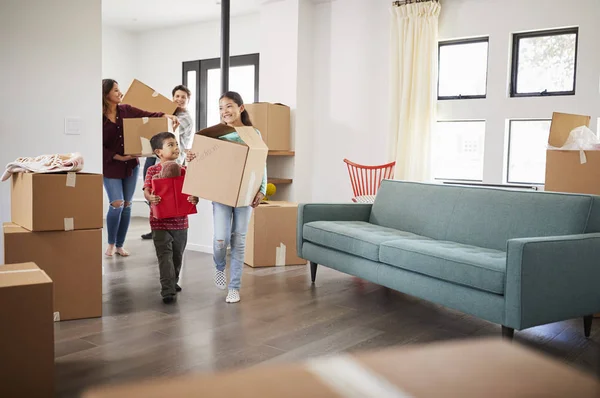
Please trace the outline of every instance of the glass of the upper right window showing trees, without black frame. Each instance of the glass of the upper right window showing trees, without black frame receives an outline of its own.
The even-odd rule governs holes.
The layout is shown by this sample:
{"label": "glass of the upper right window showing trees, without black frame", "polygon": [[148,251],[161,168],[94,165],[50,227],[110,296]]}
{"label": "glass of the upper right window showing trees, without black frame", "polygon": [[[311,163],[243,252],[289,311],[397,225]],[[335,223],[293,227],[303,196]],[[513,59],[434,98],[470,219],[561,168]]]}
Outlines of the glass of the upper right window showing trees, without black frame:
{"label": "glass of the upper right window showing trees, without black frame", "polygon": [[517,93],[575,89],[576,34],[519,40]]}

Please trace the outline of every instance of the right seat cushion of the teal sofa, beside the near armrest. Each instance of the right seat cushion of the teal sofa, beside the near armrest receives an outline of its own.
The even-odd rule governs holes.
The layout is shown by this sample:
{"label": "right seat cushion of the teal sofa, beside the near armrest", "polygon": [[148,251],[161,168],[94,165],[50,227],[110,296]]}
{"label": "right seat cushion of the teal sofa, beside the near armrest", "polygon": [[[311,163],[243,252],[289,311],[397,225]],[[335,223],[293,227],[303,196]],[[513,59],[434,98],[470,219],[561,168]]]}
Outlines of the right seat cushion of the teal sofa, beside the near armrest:
{"label": "right seat cushion of the teal sofa, beside the near armrest", "polygon": [[506,253],[435,240],[396,240],[381,245],[380,261],[448,282],[504,294]]}

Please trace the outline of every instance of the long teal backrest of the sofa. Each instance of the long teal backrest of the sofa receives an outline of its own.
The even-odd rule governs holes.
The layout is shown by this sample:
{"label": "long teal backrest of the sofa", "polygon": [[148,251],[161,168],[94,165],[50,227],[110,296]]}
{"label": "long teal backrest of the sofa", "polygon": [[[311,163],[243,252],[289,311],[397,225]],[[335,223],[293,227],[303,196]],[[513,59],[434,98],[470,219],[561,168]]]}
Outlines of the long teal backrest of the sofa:
{"label": "long teal backrest of the sofa", "polygon": [[600,201],[591,195],[385,180],[369,222],[437,240],[506,251],[509,239],[599,230],[598,206]]}

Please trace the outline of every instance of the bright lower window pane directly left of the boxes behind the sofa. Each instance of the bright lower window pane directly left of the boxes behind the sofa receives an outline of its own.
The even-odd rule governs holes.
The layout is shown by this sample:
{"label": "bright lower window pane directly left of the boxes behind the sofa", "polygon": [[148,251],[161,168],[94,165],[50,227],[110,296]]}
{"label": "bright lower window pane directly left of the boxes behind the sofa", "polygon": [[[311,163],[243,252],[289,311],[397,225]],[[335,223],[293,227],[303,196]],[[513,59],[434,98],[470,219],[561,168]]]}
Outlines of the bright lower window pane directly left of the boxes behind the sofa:
{"label": "bright lower window pane directly left of the boxes behind the sofa", "polygon": [[508,182],[544,184],[550,120],[511,120]]}

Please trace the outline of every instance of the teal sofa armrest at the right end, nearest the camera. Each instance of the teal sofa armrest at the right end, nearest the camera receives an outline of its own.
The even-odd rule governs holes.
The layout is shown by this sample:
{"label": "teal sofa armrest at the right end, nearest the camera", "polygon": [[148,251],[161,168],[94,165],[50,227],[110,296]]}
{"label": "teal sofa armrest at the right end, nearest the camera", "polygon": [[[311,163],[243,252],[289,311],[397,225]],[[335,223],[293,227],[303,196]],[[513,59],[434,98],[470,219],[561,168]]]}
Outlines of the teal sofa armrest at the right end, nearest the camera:
{"label": "teal sofa armrest at the right end, nearest the camera", "polygon": [[600,233],[509,240],[504,294],[514,329],[600,311]]}

